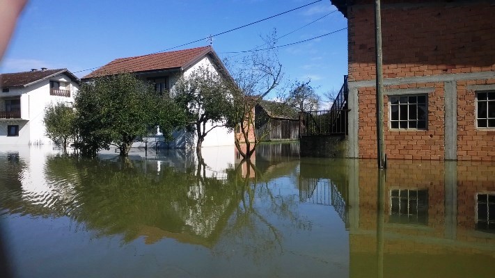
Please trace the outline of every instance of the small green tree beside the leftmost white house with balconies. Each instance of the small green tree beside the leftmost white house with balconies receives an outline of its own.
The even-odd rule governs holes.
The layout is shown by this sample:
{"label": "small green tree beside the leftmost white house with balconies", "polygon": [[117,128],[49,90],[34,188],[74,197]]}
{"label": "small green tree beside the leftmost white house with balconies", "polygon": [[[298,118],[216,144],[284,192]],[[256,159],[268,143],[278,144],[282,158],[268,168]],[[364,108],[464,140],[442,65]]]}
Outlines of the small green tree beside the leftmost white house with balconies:
{"label": "small green tree beside the leftmost white house with balconies", "polygon": [[49,104],[45,108],[43,122],[45,123],[46,134],[57,146],[63,147],[63,152],[67,152],[68,140],[74,138],[75,117],[74,109],[62,102]]}

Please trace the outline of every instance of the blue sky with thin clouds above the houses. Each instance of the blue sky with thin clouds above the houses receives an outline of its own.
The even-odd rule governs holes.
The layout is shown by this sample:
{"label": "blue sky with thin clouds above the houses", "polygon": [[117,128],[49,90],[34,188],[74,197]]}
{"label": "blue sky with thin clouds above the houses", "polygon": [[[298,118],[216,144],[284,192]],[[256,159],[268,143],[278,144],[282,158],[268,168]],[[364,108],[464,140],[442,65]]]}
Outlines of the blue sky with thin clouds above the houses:
{"label": "blue sky with thin clouds above the houses", "polygon": [[[317,0],[30,0],[17,22],[0,72],[67,68],[82,77],[116,58],[172,49]],[[332,13],[333,12],[333,13]],[[321,18],[322,17],[322,18]],[[318,19],[318,20],[317,20]],[[313,22],[313,23],[312,23]],[[306,26],[307,25],[307,26]],[[330,0],[212,38],[220,58],[238,58],[276,31],[278,46],[347,27]],[[288,35],[287,35],[288,34]],[[210,44],[200,40],[174,48]],[[279,47],[285,81],[308,81],[323,95],[339,90],[347,74],[347,29]]]}

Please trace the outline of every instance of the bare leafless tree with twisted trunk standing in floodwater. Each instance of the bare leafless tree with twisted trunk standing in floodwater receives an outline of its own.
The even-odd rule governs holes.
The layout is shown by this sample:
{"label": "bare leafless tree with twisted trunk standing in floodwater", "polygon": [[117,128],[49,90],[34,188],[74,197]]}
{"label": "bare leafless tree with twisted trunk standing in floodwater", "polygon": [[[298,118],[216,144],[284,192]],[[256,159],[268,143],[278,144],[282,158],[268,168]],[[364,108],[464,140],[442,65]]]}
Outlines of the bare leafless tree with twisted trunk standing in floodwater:
{"label": "bare leafless tree with twisted trunk standing in floodwater", "polygon": [[243,158],[251,157],[258,142],[267,135],[254,132],[254,108],[278,87],[283,76],[282,65],[273,50],[274,40],[267,43],[270,46],[267,51],[254,51],[237,63],[237,70],[233,70],[234,81],[228,83],[233,99],[228,125],[235,130],[235,147]]}

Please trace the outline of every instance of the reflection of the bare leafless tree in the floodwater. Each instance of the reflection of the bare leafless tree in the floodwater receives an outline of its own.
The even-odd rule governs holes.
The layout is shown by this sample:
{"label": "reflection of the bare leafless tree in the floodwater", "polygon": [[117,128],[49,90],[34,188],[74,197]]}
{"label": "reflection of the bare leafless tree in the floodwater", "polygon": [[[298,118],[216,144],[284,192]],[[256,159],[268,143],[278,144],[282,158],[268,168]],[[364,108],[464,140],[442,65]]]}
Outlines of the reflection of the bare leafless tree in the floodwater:
{"label": "reflection of the bare leafless tree in the floodwater", "polygon": [[[241,168],[247,169],[242,174]],[[255,171],[253,179],[250,171]],[[276,184],[269,183],[258,168],[249,160],[244,160],[231,170],[228,179],[242,189],[242,199],[235,209],[221,240],[214,248],[216,254],[233,256],[231,248],[237,246],[244,256],[254,261],[266,259],[284,252],[284,229],[311,230],[311,222],[299,215],[297,195],[277,193]]]}

